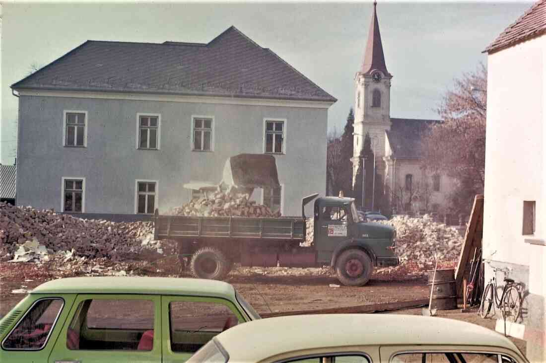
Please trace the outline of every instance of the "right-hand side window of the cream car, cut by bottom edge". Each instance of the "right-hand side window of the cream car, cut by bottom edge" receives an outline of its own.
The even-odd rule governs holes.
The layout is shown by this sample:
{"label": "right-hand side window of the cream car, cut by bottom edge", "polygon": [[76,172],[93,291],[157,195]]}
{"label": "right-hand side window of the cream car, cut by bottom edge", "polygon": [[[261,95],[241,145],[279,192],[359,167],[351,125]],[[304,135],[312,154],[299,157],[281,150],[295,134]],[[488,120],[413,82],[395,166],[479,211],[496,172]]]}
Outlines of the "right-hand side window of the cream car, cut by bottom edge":
{"label": "right-hand side window of the cream car, cut by bottom edge", "polygon": [[497,363],[498,354],[461,352],[423,352],[397,354],[392,363]]}

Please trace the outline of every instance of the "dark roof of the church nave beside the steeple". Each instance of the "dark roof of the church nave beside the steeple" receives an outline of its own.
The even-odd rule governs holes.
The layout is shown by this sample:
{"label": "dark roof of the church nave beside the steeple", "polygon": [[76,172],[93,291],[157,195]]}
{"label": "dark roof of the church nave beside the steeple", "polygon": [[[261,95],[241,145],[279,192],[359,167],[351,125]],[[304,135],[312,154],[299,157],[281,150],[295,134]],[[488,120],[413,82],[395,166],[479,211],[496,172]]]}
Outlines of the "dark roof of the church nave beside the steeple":
{"label": "dark roof of the church nave beside the steeple", "polygon": [[419,159],[422,157],[422,139],[429,127],[440,120],[415,118],[391,118],[387,138],[395,159]]}

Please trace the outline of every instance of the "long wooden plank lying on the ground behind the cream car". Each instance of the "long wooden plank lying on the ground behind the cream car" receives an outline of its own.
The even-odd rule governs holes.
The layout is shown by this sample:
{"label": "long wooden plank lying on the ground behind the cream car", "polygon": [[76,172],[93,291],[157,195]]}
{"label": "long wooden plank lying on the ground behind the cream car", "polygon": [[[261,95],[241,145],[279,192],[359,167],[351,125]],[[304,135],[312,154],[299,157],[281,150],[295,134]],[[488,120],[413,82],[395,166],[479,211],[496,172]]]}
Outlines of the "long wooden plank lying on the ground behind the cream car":
{"label": "long wooden plank lying on the ground behind the cream car", "polygon": [[407,308],[416,308],[428,306],[429,299],[419,299],[410,301],[383,302],[382,304],[370,304],[359,306],[335,307],[319,310],[300,310],[300,311],[280,311],[274,313],[261,313],[262,318],[281,317],[289,315],[307,315],[307,314],[369,314],[381,311],[401,310]]}

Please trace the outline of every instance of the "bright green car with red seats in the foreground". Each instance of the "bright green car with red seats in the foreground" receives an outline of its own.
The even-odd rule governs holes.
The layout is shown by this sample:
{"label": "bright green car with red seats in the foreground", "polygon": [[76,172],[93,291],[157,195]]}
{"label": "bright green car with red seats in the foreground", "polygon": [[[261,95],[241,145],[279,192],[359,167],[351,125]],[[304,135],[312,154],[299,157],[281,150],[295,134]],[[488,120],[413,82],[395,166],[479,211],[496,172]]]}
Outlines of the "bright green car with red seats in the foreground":
{"label": "bright green car with red seats in the foreground", "polygon": [[56,279],[0,320],[0,362],[184,362],[220,332],[259,318],[221,281]]}

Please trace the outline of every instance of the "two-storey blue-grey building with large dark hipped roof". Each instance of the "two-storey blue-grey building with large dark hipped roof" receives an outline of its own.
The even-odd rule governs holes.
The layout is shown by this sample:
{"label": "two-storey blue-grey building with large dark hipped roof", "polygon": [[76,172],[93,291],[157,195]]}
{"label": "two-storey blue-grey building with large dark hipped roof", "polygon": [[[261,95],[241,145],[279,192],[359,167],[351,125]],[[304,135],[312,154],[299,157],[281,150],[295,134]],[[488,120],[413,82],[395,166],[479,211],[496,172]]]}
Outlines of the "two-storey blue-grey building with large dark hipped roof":
{"label": "two-storey blue-grey building with large dark hipped roof", "polygon": [[336,99],[233,26],[206,44],[88,40],[11,88],[18,204],[166,212],[240,153],[275,157],[281,187],[253,198],[283,215],[325,192]]}

